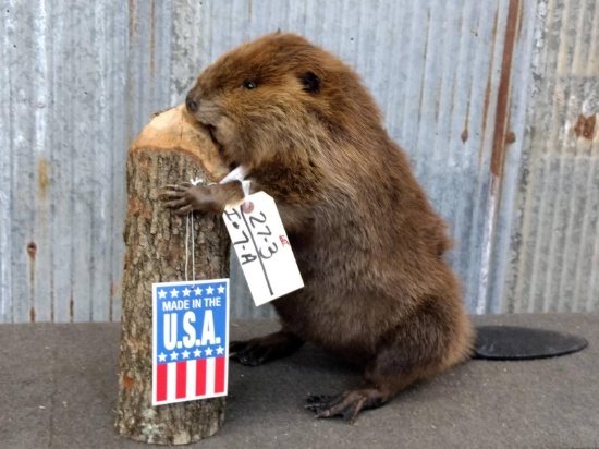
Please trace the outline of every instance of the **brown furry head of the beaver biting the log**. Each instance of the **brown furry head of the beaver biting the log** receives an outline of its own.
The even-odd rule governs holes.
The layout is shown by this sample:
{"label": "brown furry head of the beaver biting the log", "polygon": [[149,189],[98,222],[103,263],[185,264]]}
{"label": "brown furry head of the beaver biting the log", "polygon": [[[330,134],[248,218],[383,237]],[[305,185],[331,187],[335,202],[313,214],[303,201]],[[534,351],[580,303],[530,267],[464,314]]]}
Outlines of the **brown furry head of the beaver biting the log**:
{"label": "brown furry head of the beaver biting the log", "polygon": [[225,162],[247,167],[314,156],[331,142],[380,125],[354,71],[283,33],[223,54],[199,75],[186,107],[208,128]]}

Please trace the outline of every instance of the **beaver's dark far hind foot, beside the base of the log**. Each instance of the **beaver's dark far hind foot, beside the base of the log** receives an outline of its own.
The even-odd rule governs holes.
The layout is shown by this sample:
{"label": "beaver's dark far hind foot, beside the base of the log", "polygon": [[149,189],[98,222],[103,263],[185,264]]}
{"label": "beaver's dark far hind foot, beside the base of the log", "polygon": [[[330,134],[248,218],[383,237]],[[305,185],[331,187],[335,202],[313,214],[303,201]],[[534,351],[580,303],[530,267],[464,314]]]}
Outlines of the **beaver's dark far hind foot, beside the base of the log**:
{"label": "beaver's dark far hind foot, beside the base of the log", "polygon": [[295,333],[280,330],[247,341],[232,341],[229,344],[229,357],[242,365],[258,366],[271,360],[291,355],[302,344],[304,341]]}

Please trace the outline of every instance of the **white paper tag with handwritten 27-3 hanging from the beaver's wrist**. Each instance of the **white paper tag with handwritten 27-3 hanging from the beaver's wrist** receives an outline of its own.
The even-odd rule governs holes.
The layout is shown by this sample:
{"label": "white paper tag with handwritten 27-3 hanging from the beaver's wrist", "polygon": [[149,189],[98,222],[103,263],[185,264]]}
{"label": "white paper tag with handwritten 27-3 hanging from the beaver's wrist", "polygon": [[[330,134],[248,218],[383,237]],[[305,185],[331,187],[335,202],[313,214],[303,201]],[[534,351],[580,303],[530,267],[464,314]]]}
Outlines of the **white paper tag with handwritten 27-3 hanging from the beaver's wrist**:
{"label": "white paper tag with handwritten 27-3 hanging from the beaver's wrist", "polygon": [[256,305],[304,287],[271,196],[257,192],[224,208],[224,223]]}

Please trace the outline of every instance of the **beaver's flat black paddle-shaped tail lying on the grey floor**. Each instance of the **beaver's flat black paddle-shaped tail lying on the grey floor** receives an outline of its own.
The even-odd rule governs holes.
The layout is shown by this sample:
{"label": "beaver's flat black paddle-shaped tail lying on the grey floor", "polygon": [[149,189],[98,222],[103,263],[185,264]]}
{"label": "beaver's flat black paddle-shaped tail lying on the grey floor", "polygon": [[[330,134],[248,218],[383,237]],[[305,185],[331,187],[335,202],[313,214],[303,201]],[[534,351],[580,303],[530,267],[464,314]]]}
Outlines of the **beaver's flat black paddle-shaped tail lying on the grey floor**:
{"label": "beaver's flat black paddle-shaped tail lying on the grey floor", "polygon": [[474,359],[547,359],[580,351],[588,344],[578,336],[516,326],[480,326],[476,332]]}

